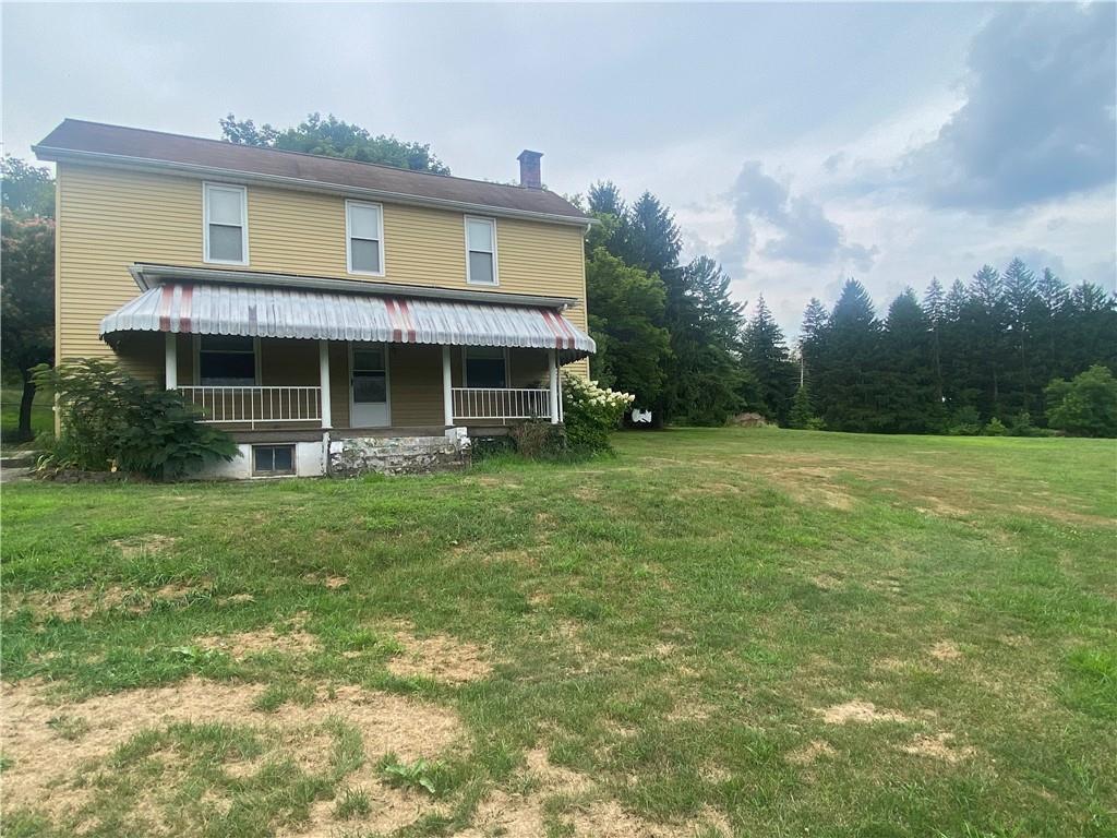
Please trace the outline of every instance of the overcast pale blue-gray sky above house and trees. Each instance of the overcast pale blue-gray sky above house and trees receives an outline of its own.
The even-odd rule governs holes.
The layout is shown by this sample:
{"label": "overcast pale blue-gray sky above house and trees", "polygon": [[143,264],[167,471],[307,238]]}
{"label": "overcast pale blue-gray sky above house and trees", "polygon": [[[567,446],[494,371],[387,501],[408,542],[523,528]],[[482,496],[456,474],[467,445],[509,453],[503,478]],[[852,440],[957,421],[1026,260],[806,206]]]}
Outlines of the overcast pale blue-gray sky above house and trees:
{"label": "overcast pale blue-gray sky above house and trees", "polygon": [[4,3],[3,141],[63,117],[219,136],[333,112],[455,174],[675,211],[790,333],[1020,255],[1114,289],[1115,7]]}

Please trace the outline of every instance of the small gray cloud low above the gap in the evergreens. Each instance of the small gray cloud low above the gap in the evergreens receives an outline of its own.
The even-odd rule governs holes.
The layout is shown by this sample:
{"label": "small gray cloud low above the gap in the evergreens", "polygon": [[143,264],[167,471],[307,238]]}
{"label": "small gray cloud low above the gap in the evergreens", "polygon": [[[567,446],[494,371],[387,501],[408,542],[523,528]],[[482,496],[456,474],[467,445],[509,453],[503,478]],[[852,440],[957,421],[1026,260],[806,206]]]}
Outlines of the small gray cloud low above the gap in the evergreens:
{"label": "small gray cloud low above the gap in the evergreens", "polygon": [[868,270],[877,248],[844,244],[840,226],[827,218],[822,207],[805,196],[792,196],[785,183],[764,173],[760,161],[750,160],[741,169],[731,192],[734,231],[722,245],[722,263],[738,268],[756,245],[754,221],[765,221],[779,235],[767,241],[761,255],[801,265],[848,261]]}

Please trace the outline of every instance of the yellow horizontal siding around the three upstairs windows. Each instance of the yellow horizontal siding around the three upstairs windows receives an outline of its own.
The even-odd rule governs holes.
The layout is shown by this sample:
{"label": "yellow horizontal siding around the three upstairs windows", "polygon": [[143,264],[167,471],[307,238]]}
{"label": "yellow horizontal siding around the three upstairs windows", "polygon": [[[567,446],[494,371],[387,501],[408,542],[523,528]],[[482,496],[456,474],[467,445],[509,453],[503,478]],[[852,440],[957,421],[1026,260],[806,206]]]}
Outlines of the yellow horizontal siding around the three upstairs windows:
{"label": "yellow horizontal siding around the three upstairs windows", "polygon": [[[139,293],[128,265],[206,267],[202,181],[60,163],[57,198],[58,356],[106,355],[101,318]],[[344,198],[249,185],[248,237],[247,269],[371,278],[345,272]],[[477,288],[466,284],[460,212],[385,203],[384,249],[385,275],[375,282]],[[500,284],[491,293],[577,297],[566,316],[585,328],[582,254],[580,228],[498,219]],[[162,361],[139,366],[159,374]]]}

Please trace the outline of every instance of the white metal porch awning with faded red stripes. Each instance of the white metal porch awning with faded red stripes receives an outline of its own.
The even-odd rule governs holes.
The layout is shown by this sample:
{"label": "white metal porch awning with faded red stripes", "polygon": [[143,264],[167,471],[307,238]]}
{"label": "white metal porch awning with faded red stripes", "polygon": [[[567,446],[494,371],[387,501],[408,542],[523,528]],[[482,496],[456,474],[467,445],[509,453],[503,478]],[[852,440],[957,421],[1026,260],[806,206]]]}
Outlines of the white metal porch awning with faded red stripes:
{"label": "white metal porch awning with faded red stripes", "polygon": [[595,351],[554,308],[220,283],[149,288],[101,321],[102,337],[121,332]]}

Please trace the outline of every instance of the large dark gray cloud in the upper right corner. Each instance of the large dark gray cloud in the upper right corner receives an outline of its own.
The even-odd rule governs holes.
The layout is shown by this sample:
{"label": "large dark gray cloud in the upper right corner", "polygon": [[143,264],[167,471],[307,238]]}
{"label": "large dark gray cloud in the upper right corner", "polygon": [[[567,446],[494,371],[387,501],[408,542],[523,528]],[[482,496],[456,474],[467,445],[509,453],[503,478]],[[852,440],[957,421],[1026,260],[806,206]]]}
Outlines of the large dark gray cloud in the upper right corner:
{"label": "large dark gray cloud in the upper right corner", "polygon": [[977,32],[966,103],[900,165],[936,207],[1005,211],[1114,181],[1115,11],[1012,6]]}

